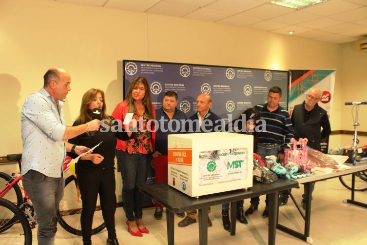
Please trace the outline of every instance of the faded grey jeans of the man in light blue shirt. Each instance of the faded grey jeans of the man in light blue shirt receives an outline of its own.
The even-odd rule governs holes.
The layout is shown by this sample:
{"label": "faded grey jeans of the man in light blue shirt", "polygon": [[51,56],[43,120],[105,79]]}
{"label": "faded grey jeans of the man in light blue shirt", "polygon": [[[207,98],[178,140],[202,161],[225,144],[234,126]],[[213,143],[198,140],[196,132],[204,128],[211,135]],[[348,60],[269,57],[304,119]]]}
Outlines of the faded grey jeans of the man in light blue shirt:
{"label": "faded grey jeans of the man in light blue shirt", "polygon": [[38,244],[54,245],[58,205],[64,194],[64,178],[47,177],[38,171],[29,170],[22,176],[22,182],[37,214]]}

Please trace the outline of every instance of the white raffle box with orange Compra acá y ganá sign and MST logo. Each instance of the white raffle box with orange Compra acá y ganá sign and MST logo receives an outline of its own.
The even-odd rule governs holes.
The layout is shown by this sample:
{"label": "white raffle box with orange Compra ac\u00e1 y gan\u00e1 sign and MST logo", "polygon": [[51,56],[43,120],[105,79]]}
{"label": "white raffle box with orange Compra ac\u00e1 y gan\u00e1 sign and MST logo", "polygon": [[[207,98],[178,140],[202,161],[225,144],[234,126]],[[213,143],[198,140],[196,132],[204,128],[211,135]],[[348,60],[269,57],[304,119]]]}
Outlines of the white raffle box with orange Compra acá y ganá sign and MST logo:
{"label": "white raffle box with orange Compra ac\u00e1 y gan\u00e1 sign and MST logo", "polygon": [[198,197],[252,186],[253,136],[215,132],[168,136],[168,184]]}

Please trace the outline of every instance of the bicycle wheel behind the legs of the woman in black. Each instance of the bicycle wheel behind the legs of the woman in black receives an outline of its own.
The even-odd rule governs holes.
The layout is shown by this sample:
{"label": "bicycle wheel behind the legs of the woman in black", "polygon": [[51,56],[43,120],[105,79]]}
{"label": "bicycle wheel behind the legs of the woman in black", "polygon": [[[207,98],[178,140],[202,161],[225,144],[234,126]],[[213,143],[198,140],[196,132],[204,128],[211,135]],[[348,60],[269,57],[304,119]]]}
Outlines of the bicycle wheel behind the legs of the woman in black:
{"label": "bicycle wheel behind the legs of the woman in black", "polygon": [[[82,199],[82,198],[81,198]],[[81,236],[80,214],[82,201],[77,202],[77,179],[74,175],[65,180],[64,197],[62,198],[58,210],[58,222],[68,232]],[[99,195],[97,206],[93,216],[92,234],[96,234],[106,227],[102,217]]]}

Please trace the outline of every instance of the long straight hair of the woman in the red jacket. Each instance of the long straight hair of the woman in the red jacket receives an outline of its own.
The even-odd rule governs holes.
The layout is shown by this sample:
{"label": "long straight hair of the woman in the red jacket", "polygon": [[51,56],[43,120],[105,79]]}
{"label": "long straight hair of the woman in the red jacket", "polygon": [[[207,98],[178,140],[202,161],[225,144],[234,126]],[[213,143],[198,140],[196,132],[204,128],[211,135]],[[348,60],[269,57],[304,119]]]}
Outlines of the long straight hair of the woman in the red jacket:
{"label": "long straight hair of the woman in the red jacket", "polygon": [[145,96],[143,98],[143,104],[145,106],[145,110],[148,115],[148,119],[155,119],[153,108],[152,108],[151,89],[145,77],[136,77],[129,85],[129,89],[126,93],[128,112],[138,114],[135,104],[134,104],[134,99],[131,93],[133,92],[134,87],[138,86],[139,84],[143,84],[145,88]]}

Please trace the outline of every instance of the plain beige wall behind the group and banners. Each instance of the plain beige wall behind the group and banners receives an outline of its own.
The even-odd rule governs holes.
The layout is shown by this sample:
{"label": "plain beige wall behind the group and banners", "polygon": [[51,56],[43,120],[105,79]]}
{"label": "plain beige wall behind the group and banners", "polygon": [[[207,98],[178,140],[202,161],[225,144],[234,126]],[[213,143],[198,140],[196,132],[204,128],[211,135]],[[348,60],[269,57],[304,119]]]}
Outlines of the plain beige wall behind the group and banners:
{"label": "plain beige wall behind the group and banners", "polygon": [[[122,98],[123,59],[264,69],[337,69],[332,130],[351,130],[345,101],[363,101],[367,52],[211,22],[186,20],[52,0],[0,1],[0,156],[21,151],[20,108],[42,86],[51,66],[72,76],[64,112],[71,124],[82,94],[106,92],[108,112]],[[363,106],[362,106],[363,107]],[[360,113],[366,115],[367,108]],[[366,117],[361,117],[367,131]],[[332,136],[332,146],[346,145]],[[350,138],[350,137],[349,137]],[[365,142],[366,143],[366,142]]]}

